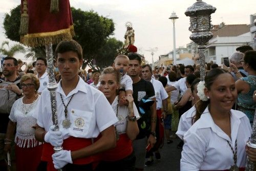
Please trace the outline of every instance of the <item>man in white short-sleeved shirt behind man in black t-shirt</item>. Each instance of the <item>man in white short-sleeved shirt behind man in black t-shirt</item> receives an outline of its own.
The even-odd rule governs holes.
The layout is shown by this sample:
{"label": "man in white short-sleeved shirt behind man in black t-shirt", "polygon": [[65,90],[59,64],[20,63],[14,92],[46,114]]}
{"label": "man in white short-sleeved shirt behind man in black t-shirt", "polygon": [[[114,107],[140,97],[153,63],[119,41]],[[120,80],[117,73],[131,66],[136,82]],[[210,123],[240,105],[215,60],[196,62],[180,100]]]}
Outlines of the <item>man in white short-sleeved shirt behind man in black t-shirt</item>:
{"label": "man in white short-sleeved shirt behind man in black t-shirt", "polygon": [[[156,95],[156,100],[157,100],[157,106],[156,106],[156,110],[157,110],[157,119],[158,122],[160,119],[162,119],[162,115],[165,115],[164,117],[166,117],[168,111],[167,111],[167,98],[168,98],[168,94],[166,93],[163,84],[152,78],[152,68],[150,65],[146,64],[144,66],[141,67],[141,75],[142,78],[146,81],[150,81],[153,84],[154,90],[155,90],[155,95]],[[161,111],[161,108],[163,106],[163,112]],[[160,157],[160,153],[158,151],[159,146],[163,143],[162,142],[162,138],[160,137],[161,135],[164,135],[164,129],[162,127],[162,129],[160,129],[160,125],[157,125],[157,143],[154,146],[154,148],[148,152],[148,160],[145,163],[146,165],[151,165],[153,163],[153,152],[155,152],[156,158],[159,160]],[[162,131],[162,133],[161,133]]]}

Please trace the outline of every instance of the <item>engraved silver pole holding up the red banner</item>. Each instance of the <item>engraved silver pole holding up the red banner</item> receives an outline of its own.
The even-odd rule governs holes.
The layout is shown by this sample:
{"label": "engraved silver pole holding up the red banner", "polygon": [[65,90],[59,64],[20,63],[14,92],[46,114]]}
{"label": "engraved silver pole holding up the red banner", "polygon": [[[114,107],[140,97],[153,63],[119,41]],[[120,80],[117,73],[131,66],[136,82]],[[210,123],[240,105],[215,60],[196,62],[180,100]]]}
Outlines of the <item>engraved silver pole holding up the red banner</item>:
{"label": "engraved silver pole holding up the red banner", "polygon": [[[47,89],[50,92],[51,96],[51,108],[52,108],[52,122],[55,126],[54,131],[59,130],[58,126],[58,114],[57,114],[57,101],[56,101],[56,89],[57,89],[57,83],[54,77],[54,65],[53,65],[53,51],[52,51],[52,44],[46,45],[46,59],[47,59],[47,72],[49,75],[49,83],[47,86]],[[62,146],[53,147],[54,152],[57,153],[63,149]],[[58,169],[61,171],[62,169]]]}

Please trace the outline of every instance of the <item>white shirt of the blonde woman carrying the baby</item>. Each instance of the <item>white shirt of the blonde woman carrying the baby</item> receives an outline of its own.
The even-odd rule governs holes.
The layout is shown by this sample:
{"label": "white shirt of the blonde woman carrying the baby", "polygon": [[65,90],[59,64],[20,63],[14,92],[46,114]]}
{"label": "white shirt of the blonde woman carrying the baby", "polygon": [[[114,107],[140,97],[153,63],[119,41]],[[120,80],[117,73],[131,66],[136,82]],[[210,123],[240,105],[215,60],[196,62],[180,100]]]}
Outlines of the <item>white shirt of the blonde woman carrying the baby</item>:
{"label": "white shirt of the blonde woman carrying the baby", "polygon": [[[115,113],[117,112],[117,104],[118,104],[118,96],[116,96],[115,100],[111,104],[113,110]],[[134,111],[134,116],[136,116],[136,119],[138,120],[140,118],[139,112],[136,108],[135,103],[133,103],[133,111]],[[126,105],[118,105],[118,122],[115,124],[116,125],[116,130],[118,134],[124,134],[126,133],[126,125],[127,125],[127,116],[129,115],[129,109]]]}

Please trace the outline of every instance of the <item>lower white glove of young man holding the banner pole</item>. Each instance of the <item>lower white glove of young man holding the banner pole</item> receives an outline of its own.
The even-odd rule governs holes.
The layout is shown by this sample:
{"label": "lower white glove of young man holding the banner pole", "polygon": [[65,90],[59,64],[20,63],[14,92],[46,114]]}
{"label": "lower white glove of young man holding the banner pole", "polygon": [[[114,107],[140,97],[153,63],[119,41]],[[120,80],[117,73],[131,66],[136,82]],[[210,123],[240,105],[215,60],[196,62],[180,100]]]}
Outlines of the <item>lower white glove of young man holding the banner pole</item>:
{"label": "lower white glove of young man holding the banner pole", "polygon": [[68,163],[73,163],[71,151],[62,150],[52,155],[53,164],[56,169],[64,167]]}

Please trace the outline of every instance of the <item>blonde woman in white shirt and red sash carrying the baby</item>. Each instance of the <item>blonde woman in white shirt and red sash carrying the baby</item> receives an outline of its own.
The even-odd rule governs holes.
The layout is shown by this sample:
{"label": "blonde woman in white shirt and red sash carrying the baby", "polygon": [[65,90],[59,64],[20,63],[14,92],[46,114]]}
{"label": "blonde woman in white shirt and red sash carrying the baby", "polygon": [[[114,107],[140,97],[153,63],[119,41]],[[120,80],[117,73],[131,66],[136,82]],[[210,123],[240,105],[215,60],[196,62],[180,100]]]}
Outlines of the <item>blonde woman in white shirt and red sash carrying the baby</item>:
{"label": "blonde woman in white shirt and red sash carrying the baby", "polygon": [[132,141],[139,134],[137,119],[140,116],[131,94],[124,97],[128,106],[118,105],[119,80],[120,73],[113,67],[108,67],[101,73],[99,89],[110,102],[118,122],[115,125],[116,147],[102,153],[98,170],[135,170],[136,157]]}

